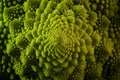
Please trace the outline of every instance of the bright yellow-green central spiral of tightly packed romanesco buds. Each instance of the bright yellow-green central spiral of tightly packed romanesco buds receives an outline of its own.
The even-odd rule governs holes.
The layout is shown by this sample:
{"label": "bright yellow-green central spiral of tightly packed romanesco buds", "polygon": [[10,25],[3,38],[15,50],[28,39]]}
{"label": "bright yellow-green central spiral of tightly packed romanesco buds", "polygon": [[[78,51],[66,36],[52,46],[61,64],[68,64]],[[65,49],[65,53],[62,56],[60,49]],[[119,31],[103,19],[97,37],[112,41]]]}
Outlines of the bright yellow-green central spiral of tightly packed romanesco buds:
{"label": "bright yellow-green central spiral of tightly packed romanesco buds", "polygon": [[48,15],[43,27],[38,28],[37,32],[40,35],[36,41],[41,44],[39,50],[42,51],[39,56],[39,66],[44,68],[43,72],[47,77],[64,71],[71,74],[77,66],[79,57],[75,50],[77,38],[74,33],[74,22],[71,21],[69,24],[70,17],[63,15],[51,17],[53,15]]}

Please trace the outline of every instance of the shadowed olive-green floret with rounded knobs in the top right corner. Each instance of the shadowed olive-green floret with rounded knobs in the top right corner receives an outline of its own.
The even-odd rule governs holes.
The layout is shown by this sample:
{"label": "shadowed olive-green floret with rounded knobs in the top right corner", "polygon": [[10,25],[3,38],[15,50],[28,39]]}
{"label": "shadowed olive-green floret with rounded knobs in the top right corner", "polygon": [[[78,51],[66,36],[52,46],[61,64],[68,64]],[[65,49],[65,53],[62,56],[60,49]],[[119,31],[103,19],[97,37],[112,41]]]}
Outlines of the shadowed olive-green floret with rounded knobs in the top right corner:
{"label": "shadowed olive-green floret with rounded knobs in the top right corner", "polygon": [[117,12],[118,8],[118,0],[89,0],[90,8],[102,15],[106,15],[107,17],[113,17]]}

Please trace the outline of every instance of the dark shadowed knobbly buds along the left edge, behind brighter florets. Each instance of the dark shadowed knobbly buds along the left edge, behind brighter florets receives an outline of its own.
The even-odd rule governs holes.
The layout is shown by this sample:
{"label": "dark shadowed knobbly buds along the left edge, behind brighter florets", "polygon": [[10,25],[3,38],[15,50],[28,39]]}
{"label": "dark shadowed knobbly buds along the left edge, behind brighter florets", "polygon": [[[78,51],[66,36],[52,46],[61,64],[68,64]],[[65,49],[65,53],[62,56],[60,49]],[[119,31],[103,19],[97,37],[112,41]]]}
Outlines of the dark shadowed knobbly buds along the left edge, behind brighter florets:
{"label": "dark shadowed knobbly buds along the left edge, behind brighter florets", "polygon": [[1,79],[17,79],[18,76],[15,74],[13,62],[11,57],[7,55],[6,45],[8,43],[9,34],[8,28],[4,25],[3,21],[0,21],[0,78]]}

